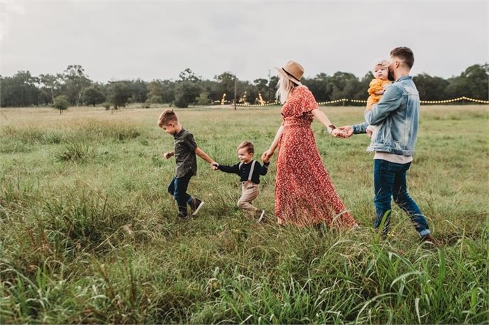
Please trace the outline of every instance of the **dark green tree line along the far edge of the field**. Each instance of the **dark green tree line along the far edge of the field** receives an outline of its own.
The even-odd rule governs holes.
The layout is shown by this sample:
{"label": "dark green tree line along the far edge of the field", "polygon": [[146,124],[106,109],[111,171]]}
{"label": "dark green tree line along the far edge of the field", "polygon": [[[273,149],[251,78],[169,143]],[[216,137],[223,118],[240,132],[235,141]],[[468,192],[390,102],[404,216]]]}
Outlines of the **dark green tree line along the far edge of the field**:
{"label": "dark green tree line along the far edge of the field", "polygon": [[[448,79],[426,73],[413,79],[421,100],[446,100],[461,96],[488,100],[488,76],[489,65],[486,63],[469,66],[460,75]],[[333,75],[319,73],[314,77],[304,77],[302,84],[309,87],[318,102],[341,98],[365,100],[372,78],[371,72],[362,78],[344,72]],[[12,77],[0,75],[0,106],[54,105],[64,109],[68,106],[103,105],[106,109],[117,109],[131,103],[141,103],[142,107],[163,103],[175,107],[219,105],[233,103],[235,87],[238,103],[262,104],[275,100],[277,82],[276,76],[258,78],[253,82],[239,80],[229,72],[215,75],[214,80],[205,80],[187,68],[177,80],[147,82],[136,79],[103,84],[90,80],[85,69],[74,64],[55,75],[36,77],[29,71],[19,71]]]}

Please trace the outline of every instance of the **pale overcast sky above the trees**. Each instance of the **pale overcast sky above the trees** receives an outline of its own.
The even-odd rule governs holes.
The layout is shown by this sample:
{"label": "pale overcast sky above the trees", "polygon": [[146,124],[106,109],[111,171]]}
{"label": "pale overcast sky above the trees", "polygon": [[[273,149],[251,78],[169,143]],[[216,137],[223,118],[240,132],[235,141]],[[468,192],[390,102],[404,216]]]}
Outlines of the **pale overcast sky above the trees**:
{"label": "pale overcast sky above the trees", "polygon": [[92,80],[276,75],[293,59],[305,76],[363,77],[374,59],[408,46],[413,75],[460,75],[488,59],[488,1],[4,1],[0,74],[61,73]]}

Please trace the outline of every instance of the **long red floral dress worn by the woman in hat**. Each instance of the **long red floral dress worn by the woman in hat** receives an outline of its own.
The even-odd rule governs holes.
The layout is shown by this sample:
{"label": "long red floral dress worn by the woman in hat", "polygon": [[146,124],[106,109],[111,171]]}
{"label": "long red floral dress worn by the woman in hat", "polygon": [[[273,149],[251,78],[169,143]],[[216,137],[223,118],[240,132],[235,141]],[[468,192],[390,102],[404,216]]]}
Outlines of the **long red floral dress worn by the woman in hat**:
{"label": "long red floral dress worn by the woman in hat", "polygon": [[337,195],[312,133],[311,111],[317,107],[305,86],[296,87],[282,107],[275,215],[279,224],[302,227],[326,222],[328,227],[351,228],[356,222]]}

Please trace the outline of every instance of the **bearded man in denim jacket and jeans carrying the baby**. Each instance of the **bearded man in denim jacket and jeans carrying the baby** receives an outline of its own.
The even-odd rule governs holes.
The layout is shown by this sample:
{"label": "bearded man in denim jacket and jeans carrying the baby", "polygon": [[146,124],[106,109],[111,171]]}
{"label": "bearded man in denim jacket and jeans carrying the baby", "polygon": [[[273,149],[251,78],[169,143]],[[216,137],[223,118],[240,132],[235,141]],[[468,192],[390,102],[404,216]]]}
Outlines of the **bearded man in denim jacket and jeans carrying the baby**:
{"label": "bearded man in denim jacket and jeans carrying the baby", "polygon": [[367,126],[377,126],[367,151],[374,155],[375,210],[374,228],[379,229],[384,220],[382,235],[385,237],[391,223],[391,197],[404,210],[416,227],[423,241],[437,245],[430,234],[425,216],[407,192],[406,172],[411,166],[414,145],[418,135],[419,95],[409,75],[414,54],[408,47],[396,47],[391,51],[388,73],[395,82],[372,109],[365,111],[365,122],[354,126],[342,126],[349,136],[365,133]]}

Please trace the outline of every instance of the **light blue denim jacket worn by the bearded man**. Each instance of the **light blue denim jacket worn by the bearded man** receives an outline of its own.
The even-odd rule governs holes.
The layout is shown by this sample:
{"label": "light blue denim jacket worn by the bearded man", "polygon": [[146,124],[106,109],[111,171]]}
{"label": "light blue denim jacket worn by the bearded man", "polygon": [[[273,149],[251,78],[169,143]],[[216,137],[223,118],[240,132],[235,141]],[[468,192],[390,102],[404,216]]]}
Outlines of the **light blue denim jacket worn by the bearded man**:
{"label": "light blue denim jacket worn by the bearded man", "polygon": [[353,133],[365,133],[377,126],[367,151],[413,156],[418,135],[419,94],[411,76],[400,77],[388,86],[377,105],[365,111],[365,122],[353,126]]}

